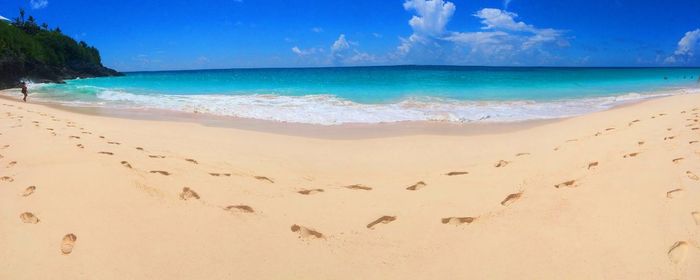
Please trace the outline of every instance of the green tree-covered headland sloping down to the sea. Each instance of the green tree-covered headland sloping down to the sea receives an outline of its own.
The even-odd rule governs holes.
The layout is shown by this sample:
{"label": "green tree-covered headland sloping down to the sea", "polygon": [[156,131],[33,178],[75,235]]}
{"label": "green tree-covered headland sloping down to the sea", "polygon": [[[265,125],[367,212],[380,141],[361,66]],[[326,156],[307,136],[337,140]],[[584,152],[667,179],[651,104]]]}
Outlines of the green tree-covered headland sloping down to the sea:
{"label": "green tree-covered headland sloping down to the sea", "polygon": [[20,9],[12,23],[0,21],[0,88],[19,79],[61,82],[76,77],[118,75],[102,66],[100,52],[87,43],[39,25]]}

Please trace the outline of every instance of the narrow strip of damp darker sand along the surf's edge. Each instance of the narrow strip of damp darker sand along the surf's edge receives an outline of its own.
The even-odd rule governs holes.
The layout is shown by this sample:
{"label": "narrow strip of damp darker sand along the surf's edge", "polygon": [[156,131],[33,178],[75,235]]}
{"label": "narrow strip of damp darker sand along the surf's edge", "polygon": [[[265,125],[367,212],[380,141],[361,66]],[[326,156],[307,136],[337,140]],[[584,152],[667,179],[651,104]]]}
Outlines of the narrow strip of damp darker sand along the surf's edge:
{"label": "narrow strip of damp darker sand along the surf's edge", "polygon": [[[684,91],[687,88],[675,91]],[[17,91],[17,92],[15,92]],[[661,93],[661,92],[659,92]],[[16,89],[0,90],[0,99],[14,100],[8,94],[20,94]],[[469,136],[479,134],[502,134],[518,130],[529,129],[536,126],[559,122],[569,118],[581,117],[588,114],[595,114],[614,110],[616,108],[630,106],[649,100],[665,98],[675,95],[695,94],[695,93],[669,93],[668,95],[651,96],[639,99],[622,101],[610,108],[602,111],[592,111],[581,115],[562,116],[545,119],[528,119],[518,121],[474,121],[474,122],[451,122],[451,121],[397,121],[386,123],[343,123],[334,125],[282,122],[263,119],[249,119],[233,116],[219,116],[207,113],[180,112],[157,108],[149,109],[127,109],[127,108],[107,108],[97,106],[69,106],[52,101],[39,101],[41,104],[51,108],[65,110],[69,112],[105,116],[115,118],[125,118],[133,120],[152,121],[172,121],[188,122],[203,126],[242,129],[248,131],[282,134],[290,136],[300,136],[321,139],[366,139],[385,138],[410,135],[447,135],[447,136]],[[16,101],[16,100],[15,100]],[[30,95],[31,103],[31,95]]]}

